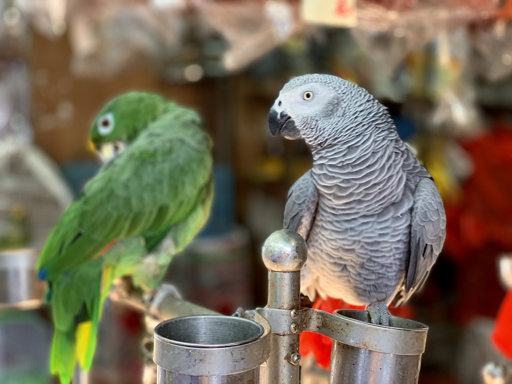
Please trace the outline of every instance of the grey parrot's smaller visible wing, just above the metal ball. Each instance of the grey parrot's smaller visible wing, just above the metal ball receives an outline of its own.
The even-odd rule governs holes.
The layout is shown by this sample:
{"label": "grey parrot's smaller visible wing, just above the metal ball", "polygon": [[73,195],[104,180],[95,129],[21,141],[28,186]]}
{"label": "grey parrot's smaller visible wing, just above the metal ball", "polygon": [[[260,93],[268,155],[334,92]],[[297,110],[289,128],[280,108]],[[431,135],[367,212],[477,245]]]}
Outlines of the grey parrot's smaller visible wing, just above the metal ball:
{"label": "grey parrot's smaller visible wing, just above the metal ball", "polygon": [[295,181],[288,191],[283,228],[298,232],[307,241],[315,220],[317,205],[318,191],[310,169]]}

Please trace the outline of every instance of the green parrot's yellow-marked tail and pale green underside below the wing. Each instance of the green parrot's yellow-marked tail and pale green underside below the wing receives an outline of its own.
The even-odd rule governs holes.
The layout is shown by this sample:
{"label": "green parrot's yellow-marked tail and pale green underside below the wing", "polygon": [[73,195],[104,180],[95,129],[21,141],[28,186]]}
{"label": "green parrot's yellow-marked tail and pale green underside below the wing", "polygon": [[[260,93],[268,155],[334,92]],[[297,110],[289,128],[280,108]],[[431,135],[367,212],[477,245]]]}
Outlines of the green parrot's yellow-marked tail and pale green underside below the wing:
{"label": "green parrot's yellow-marked tail and pale green underside below the wing", "polygon": [[[170,260],[197,234],[207,220],[212,202],[212,184],[197,205],[181,222],[167,229],[170,247],[159,247],[147,254],[140,236],[115,243],[103,256],[63,273],[52,282],[50,295],[55,332],[50,367],[61,383],[69,383],[76,362],[84,370],[91,368],[97,343],[102,307],[113,281],[132,276],[136,286],[155,289]],[[165,240],[164,240],[165,241]]]}

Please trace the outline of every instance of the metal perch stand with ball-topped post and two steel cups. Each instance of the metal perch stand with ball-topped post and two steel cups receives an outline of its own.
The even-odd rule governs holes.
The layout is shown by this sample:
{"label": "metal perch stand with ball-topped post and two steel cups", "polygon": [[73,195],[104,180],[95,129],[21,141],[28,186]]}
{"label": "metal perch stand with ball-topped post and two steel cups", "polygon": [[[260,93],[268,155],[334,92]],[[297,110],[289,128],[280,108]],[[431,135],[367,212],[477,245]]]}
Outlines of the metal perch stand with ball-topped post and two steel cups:
{"label": "metal perch stand with ball-topped post and two steel cups", "polygon": [[269,270],[268,303],[254,310],[253,319],[193,315],[155,327],[158,384],[298,384],[303,331],[333,339],[331,384],[418,382],[428,327],[395,316],[389,327],[373,325],[366,311],[301,309],[304,239],[275,231],[262,253]]}

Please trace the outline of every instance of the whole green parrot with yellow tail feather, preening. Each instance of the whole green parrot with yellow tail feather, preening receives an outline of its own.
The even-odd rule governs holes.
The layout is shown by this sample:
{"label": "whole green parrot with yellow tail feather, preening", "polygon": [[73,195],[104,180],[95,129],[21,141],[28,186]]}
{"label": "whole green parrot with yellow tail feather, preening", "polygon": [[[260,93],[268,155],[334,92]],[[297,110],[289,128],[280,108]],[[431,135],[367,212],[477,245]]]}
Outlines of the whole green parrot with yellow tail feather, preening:
{"label": "whole green parrot with yellow tail feather, preening", "polygon": [[131,275],[154,289],[172,256],[206,223],[213,199],[212,142],[198,114],[130,92],[110,101],[91,128],[103,158],[40,252],[55,326],[50,370],[68,384],[89,370],[101,310],[113,281]]}

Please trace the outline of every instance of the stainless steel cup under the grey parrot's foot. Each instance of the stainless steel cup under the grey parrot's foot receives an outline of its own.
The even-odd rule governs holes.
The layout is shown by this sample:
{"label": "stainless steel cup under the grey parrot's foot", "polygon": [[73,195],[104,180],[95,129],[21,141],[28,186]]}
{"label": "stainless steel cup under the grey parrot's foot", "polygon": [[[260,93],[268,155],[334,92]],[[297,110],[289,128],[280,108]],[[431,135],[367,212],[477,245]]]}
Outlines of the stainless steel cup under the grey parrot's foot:
{"label": "stainless steel cup under the grey parrot's foot", "polygon": [[353,343],[334,342],[331,384],[415,384],[428,327],[391,316],[390,326],[369,323],[367,311],[338,310]]}

